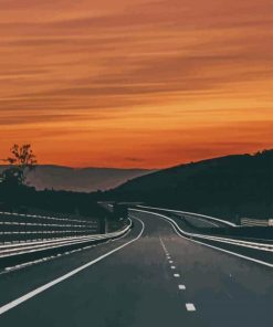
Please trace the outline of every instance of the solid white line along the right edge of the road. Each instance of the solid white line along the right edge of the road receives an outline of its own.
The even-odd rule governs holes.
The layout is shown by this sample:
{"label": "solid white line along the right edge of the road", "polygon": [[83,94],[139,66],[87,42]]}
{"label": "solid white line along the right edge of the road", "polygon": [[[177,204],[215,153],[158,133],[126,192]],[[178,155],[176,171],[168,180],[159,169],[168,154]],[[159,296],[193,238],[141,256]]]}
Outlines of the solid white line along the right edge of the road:
{"label": "solid white line along the right edge of the road", "polygon": [[132,210],[132,211],[144,212],[144,213],[149,213],[149,214],[154,214],[154,215],[159,217],[160,219],[167,221],[167,222],[172,226],[172,229],[174,229],[174,231],[177,233],[177,235],[180,236],[181,239],[185,239],[185,240],[188,240],[188,241],[190,241],[190,242],[198,243],[198,244],[201,244],[201,245],[204,245],[204,246],[207,246],[207,247],[211,247],[211,249],[214,249],[214,250],[218,250],[218,251],[224,252],[224,253],[229,253],[229,254],[232,254],[232,255],[234,255],[234,256],[238,256],[238,257],[241,257],[241,259],[245,259],[245,260],[248,260],[248,261],[252,261],[252,262],[255,262],[255,263],[259,263],[259,264],[262,264],[262,265],[265,265],[265,266],[269,266],[269,267],[273,268],[273,264],[267,263],[267,262],[265,262],[265,261],[258,260],[258,259],[253,259],[253,257],[251,257],[251,256],[246,256],[246,255],[243,255],[243,254],[239,254],[239,253],[237,253],[237,252],[228,251],[228,250],[224,250],[224,249],[221,249],[221,247],[217,247],[217,246],[214,246],[214,245],[210,245],[210,244],[203,243],[203,242],[201,242],[201,241],[196,241],[196,240],[192,240],[192,239],[189,239],[189,238],[185,238],[185,236],[182,236],[181,234],[178,233],[178,231],[176,230],[176,228],[179,229],[179,230],[180,230],[181,232],[183,232],[183,233],[185,233],[185,231],[182,231],[182,230],[178,226],[178,224],[177,224],[174,220],[171,220],[169,217],[166,217],[166,215],[160,214],[160,213],[155,213],[155,212],[151,212],[151,211],[147,211],[147,210],[139,210],[139,209],[130,209],[130,210]]}

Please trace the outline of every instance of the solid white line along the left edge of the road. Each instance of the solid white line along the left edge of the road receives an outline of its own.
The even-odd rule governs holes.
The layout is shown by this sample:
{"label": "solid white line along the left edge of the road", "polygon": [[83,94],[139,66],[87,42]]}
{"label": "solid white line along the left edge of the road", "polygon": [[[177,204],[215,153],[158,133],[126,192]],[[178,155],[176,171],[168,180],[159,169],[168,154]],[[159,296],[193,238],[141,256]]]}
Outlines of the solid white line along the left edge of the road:
{"label": "solid white line along the left edge of the road", "polygon": [[8,310],[10,310],[12,308],[14,308],[18,305],[24,303],[25,300],[28,300],[28,299],[36,296],[38,294],[40,294],[40,293],[42,293],[42,292],[51,288],[52,286],[54,286],[54,285],[56,285],[56,284],[59,284],[59,283],[61,283],[61,282],[63,282],[63,281],[65,281],[67,278],[70,278],[71,276],[80,273],[81,271],[86,270],[87,267],[94,265],[95,263],[102,261],[103,259],[109,256],[111,254],[113,254],[113,253],[122,250],[123,247],[129,245],[130,243],[136,242],[143,235],[143,232],[144,232],[144,229],[145,229],[145,224],[144,224],[144,222],[140,219],[138,219],[138,218],[135,218],[135,219],[138,220],[141,223],[141,231],[137,235],[137,238],[135,238],[135,239],[130,240],[129,242],[127,242],[127,243],[125,243],[125,244],[123,244],[123,245],[120,245],[120,246],[118,246],[118,247],[116,247],[116,249],[114,249],[114,250],[112,250],[112,251],[109,251],[109,252],[107,252],[107,253],[98,256],[97,259],[95,259],[95,260],[93,260],[93,261],[91,261],[91,262],[88,262],[88,263],[86,263],[86,264],[84,264],[84,265],[82,265],[82,266],[80,266],[80,267],[71,271],[70,273],[67,273],[67,274],[65,274],[65,275],[63,275],[63,276],[61,276],[61,277],[59,277],[59,278],[50,282],[50,283],[46,283],[45,285],[40,286],[40,287],[33,289],[32,292],[29,292],[25,295],[23,295],[23,296],[17,298],[17,299],[14,299],[14,300],[12,300],[12,302],[3,305],[3,306],[1,306],[0,307],[0,315],[2,315],[3,313],[6,313],[6,312],[8,312]]}

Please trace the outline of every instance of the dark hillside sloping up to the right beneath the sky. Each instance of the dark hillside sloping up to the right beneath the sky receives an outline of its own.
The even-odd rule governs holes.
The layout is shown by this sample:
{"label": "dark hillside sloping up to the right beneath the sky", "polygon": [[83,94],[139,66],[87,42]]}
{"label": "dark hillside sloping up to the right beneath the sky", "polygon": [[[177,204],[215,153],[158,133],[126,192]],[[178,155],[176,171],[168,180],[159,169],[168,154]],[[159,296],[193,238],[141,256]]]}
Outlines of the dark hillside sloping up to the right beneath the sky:
{"label": "dark hillside sloping up to the right beneath the sky", "polygon": [[177,166],[130,180],[105,196],[233,219],[272,218],[273,150]]}

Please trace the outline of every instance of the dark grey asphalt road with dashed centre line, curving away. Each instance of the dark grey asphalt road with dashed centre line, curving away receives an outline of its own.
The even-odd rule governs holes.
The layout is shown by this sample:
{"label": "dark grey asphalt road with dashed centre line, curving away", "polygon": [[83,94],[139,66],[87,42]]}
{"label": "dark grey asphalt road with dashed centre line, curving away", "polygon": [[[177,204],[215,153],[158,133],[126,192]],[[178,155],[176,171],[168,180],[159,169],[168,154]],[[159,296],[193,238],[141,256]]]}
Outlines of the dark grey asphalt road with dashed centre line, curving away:
{"label": "dark grey asphalt road with dashed centre line, curving away", "polygon": [[272,326],[270,267],[133,215],[119,240],[0,275],[0,326]]}

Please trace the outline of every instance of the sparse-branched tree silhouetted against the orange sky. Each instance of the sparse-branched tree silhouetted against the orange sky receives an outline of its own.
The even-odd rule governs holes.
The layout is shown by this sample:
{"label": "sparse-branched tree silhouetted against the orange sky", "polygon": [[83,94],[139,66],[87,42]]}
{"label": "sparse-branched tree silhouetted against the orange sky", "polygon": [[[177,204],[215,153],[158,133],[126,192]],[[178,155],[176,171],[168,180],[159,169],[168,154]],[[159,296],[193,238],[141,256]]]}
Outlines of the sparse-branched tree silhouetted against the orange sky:
{"label": "sparse-branched tree silhouetted against the orange sky", "polygon": [[21,186],[25,182],[28,171],[35,168],[36,158],[31,149],[31,145],[13,145],[11,156],[3,159],[9,168],[2,172],[3,182],[10,186]]}

